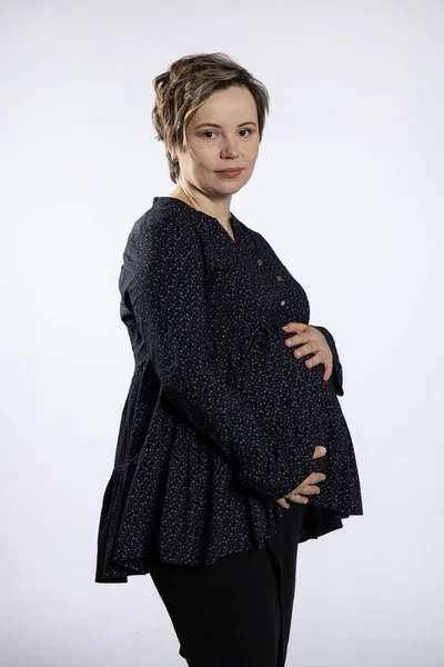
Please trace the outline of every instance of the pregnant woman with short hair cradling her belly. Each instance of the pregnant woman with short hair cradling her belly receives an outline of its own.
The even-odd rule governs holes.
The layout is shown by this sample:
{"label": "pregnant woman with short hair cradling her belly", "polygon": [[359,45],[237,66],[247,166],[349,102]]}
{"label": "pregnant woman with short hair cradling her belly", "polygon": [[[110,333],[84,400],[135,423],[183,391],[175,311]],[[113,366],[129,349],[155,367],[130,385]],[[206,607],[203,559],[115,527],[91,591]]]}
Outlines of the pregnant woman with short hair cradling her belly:
{"label": "pregnant woman with short hair cradling her belly", "polygon": [[150,574],[188,665],[283,667],[299,544],[363,514],[342,367],[302,286],[230,210],[259,155],[265,87],[210,53],[154,88],[175,188],[124,248],[134,371],[95,581]]}

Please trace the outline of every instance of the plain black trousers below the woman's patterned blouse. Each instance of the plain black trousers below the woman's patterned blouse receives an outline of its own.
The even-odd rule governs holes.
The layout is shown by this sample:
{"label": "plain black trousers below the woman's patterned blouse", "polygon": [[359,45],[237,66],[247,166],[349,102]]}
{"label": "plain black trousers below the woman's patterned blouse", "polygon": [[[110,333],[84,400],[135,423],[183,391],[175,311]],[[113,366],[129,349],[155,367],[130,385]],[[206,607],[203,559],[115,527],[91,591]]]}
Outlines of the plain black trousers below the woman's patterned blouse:
{"label": "plain black trousers below the woman's patterned blouse", "polygon": [[214,565],[153,563],[150,575],[190,667],[284,667],[305,506],[291,504],[261,549]]}

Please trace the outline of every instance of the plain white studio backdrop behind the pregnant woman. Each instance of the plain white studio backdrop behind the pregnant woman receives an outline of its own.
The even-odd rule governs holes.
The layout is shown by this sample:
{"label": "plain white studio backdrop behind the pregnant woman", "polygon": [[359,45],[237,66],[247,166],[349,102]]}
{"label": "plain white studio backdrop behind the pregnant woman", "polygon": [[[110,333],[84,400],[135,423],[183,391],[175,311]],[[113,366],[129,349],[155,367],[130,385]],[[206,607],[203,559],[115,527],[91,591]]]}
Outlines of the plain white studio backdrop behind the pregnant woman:
{"label": "plain white studio backdrop behind the pregnant woman", "polygon": [[[151,578],[94,583],[133,358],[118,277],[169,196],[152,79],[222,51],[270,117],[231,210],[344,368],[364,516],[300,547],[289,667],[437,667],[443,18],[436,1],[1,3],[1,661],[184,666]],[[254,667],[254,666],[252,666]]]}

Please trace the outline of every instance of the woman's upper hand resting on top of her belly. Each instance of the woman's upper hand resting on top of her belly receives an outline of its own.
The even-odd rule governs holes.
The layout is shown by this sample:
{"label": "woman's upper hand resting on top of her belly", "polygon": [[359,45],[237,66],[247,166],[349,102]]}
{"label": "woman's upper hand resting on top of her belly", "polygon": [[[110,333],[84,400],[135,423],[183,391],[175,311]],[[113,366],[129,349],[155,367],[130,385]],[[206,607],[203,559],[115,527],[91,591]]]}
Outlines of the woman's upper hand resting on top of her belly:
{"label": "woman's upper hand resting on top of her belly", "polygon": [[296,358],[316,352],[314,357],[305,361],[305,366],[312,368],[317,364],[323,364],[325,367],[323,379],[326,382],[333,372],[333,354],[325,336],[316,327],[304,325],[303,322],[289,322],[282,329],[287,334],[294,334],[294,336],[285,338],[284,345],[287,347],[302,346],[293,352]]}

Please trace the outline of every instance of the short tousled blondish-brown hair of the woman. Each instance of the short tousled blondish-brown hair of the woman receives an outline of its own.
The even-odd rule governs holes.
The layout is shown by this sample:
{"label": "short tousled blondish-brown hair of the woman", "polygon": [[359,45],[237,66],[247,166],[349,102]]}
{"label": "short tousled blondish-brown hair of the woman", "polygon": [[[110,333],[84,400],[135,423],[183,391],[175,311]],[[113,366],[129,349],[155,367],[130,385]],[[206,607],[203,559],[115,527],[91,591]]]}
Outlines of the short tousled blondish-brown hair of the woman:
{"label": "short tousled blondish-brown hair of the woman", "polygon": [[231,86],[244,86],[256,103],[259,140],[262,140],[270,96],[263,83],[225,53],[195,53],[175,60],[170,69],[153,79],[155,104],[151,113],[163,141],[170,178],[176,183],[179,162],[171,157],[173,147],[186,150],[186,127],[199,107],[215,91]]}

